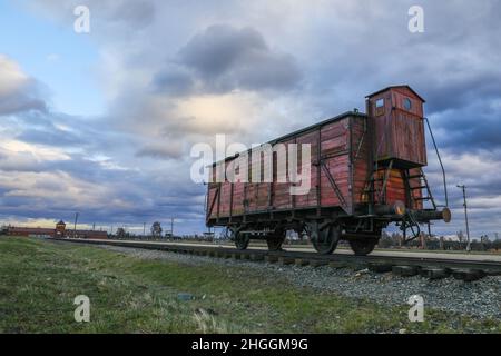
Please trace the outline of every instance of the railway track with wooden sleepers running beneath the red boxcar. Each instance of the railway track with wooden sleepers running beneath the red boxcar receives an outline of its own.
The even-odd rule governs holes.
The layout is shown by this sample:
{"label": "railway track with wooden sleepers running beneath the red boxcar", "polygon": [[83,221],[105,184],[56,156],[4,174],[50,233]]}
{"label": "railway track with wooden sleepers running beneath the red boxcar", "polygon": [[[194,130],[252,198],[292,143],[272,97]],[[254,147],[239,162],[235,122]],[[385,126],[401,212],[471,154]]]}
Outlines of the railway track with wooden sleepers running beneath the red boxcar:
{"label": "railway track with wooden sleepers running beneath the red boxcar", "polygon": [[[238,250],[229,247],[207,246],[196,244],[171,244],[151,243],[137,240],[89,240],[89,239],[57,239],[49,240],[87,244],[87,245],[110,245],[120,247],[131,247],[151,250],[163,250],[177,254],[189,254],[197,256],[209,256],[219,258],[247,259],[254,261],[279,263],[284,265],[298,266],[325,266],[335,268],[355,267],[369,268],[377,273],[393,271],[401,276],[414,276],[421,274],[431,279],[453,276],[456,279],[477,280],[484,276],[501,275],[501,263],[494,260],[473,260],[460,258],[433,258],[433,257],[410,257],[410,256],[354,256],[346,254],[318,255],[308,251],[279,250],[269,251],[266,249]],[[396,253],[399,254],[399,253]]]}

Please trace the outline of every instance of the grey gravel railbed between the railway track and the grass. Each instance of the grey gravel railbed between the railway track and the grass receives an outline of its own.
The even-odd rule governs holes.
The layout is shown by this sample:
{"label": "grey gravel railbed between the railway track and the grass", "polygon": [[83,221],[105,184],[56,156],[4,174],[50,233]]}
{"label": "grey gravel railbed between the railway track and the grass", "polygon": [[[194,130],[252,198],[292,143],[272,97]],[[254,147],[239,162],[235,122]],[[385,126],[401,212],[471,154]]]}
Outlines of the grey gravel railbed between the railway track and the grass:
{"label": "grey gravel railbed between the railway track and the grass", "polygon": [[469,315],[479,319],[501,320],[501,276],[488,276],[475,281],[456,280],[452,277],[430,280],[421,276],[399,277],[391,273],[377,274],[366,269],[283,266],[264,261],[181,255],[130,247],[100,247],[141,259],[166,259],[190,266],[213,264],[254,268],[265,271],[264,275],[267,276],[279,274],[296,286],[312,287],[352,298],[369,298],[382,304],[406,305],[411,296],[420,295],[424,298],[425,306],[434,309]]}

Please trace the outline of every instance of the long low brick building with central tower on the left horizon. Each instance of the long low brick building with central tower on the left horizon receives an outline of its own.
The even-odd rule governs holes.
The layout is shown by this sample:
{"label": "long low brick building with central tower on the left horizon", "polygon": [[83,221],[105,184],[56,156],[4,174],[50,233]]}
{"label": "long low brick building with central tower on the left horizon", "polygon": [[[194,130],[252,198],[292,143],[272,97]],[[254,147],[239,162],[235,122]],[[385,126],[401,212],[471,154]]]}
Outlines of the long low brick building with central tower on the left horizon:
{"label": "long low brick building with central tower on the left horizon", "polygon": [[108,233],[96,230],[67,230],[65,221],[60,220],[56,224],[55,229],[41,227],[16,227],[8,226],[7,235],[10,236],[28,236],[28,237],[55,237],[55,238],[90,238],[105,239]]}

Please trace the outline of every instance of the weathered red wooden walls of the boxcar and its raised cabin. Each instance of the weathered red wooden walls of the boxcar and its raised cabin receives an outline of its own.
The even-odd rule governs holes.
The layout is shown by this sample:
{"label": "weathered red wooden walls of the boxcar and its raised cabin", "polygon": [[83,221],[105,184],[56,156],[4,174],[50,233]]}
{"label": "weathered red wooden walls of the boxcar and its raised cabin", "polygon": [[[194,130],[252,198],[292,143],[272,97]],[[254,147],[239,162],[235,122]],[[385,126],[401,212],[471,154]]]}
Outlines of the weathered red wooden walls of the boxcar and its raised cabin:
{"label": "weathered red wooden walls of the boxcar and its raised cabin", "polygon": [[[374,103],[384,98],[384,108],[374,113]],[[403,100],[411,100],[406,110]],[[377,158],[395,159],[389,174],[386,194],[375,195],[375,202],[407,202],[407,208],[421,209],[423,204],[415,200],[422,196],[421,189],[413,189],[414,199],[409,199],[403,172],[414,176],[419,167],[426,164],[422,99],[406,87],[391,88],[369,97],[369,116],[346,113],[291,134],[274,144],[298,145],[297,167],[310,166],[311,189],[304,195],[291,195],[291,175],[277,169],[278,156],[289,155],[287,150],[275,151],[273,159],[262,159],[261,155],[248,154],[248,179],[252,179],[252,164],[261,165],[258,181],[213,182],[208,185],[207,219],[237,217],[258,211],[283,211],[305,208],[340,207],[347,214],[354,207],[367,202],[364,194],[371,177],[371,151],[377,150]],[[372,121],[371,121],[372,120]],[[375,132],[371,132],[371,128]],[[311,162],[302,162],[301,147],[311,145]],[[237,158],[226,160],[226,167]],[[287,161],[291,161],[288,157]],[[273,166],[273,167],[272,167]],[[273,181],[263,181],[264,172],[272,169]],[[213,167],[215,177],[216,167]],[[384,165],[375,172],[375,190],[382,190],[385,176]],[[284,182],[286,180],[286,182]],[[411,187],[420,187],[419,178],[409,181]],[[318,199],[320,198],[320,199]]]}

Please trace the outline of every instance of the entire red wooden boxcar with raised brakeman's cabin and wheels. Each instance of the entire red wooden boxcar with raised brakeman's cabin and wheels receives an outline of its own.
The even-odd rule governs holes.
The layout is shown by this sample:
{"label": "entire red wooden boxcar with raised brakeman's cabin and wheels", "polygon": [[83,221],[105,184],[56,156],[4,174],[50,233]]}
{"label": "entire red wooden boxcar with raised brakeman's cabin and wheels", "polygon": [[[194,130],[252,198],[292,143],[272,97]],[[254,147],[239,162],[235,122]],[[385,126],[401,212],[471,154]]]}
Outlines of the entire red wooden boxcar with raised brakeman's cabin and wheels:
{"label": "entire red wooden boxcar with raised brakeman's cabin and wheels", "polygon": [[[422,170],[426,165],[423,103],[409,86],[389,87],[367,96],[366,115],[345,112],[268,142],[268,159],[262,147],[214,164],[207,226],[227,227],[240,249],[250,238],[264,238],[269,249],[279,249],[285,231],[294,229],[310,236],[320,253],[332,253],[340,239],[346,239],[355,254],[366,255],[390,222],[416,235],[420,224],[449,221],[449,209],[439,210]],[[291,144],[297,145],[298,152],[276,149]],[[310,160],[301,154],[304,144]],[[291,188],[304,181],[287,180],[291,170],[279,169],[284,155],[287,168],[297,155],[298,175],[310,169],[303,179],[310,178],[311,188],[304,194],[292,194]],[[248,180],[228,179],[224,172],[242,174],[243,162],[249,167]],[[255,165],[261,170],[253,181]],[[218,169],[224,178],[219,181]],[[268,180],[263,179],[266,171]]]}

